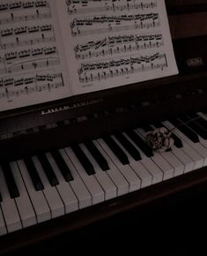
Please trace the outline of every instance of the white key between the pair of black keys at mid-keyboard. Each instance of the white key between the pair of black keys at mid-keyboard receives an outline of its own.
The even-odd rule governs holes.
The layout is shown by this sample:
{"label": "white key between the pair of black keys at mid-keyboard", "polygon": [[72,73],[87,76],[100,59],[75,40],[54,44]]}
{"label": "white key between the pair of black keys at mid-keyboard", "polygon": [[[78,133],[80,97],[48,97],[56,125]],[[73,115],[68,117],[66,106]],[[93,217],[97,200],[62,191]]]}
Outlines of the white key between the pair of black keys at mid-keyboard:
{"label": "white key between the pair of black keys at mid-keyboard", "polygon": [[[92,141],[95,144],[95,141]],[[106,170],[100,169],[99,164],[95,161],[95,159],[92,157],[92,154],[88,151],[88,149],[85,147],[85,145],[81,145],[82,150],[84,150],[86,156],[90,159],[92,162],[92,166],[95,169],[94,177],[98,180],[101,187],[103,188],[105,192],[105,200],[113,199],[117,196],[117,188],[111,178],[107,175]]]}

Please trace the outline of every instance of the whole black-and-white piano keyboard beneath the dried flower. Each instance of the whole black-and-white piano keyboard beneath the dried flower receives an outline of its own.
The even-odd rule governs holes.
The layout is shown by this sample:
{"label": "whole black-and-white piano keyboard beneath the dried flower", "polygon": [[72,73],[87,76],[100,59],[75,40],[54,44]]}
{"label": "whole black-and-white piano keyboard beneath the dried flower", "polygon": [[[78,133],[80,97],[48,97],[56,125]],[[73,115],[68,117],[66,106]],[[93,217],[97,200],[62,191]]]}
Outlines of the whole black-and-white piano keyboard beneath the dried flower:
{"label": "whole black-and-white piano keyboard beneath the dried flower", "polygon": [[[200,117],[188,123],[192,118]],[[183,124],[186,123],[186,124]],[[183,124],[183,125],[181,125]],[[150,129],[174,128],[155,153]],[[0,164],[0,235],[66,215],[207,165],[207,117],[199,112]]]}

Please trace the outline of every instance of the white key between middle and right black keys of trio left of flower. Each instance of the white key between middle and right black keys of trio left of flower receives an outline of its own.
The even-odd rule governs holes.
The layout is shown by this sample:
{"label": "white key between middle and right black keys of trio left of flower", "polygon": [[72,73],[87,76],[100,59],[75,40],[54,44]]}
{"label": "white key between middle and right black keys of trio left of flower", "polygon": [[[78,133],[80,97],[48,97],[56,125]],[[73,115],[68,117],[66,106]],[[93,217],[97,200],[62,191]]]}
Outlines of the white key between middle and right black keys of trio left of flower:
{"label": "white key between middle and right black keys of trio left of flower", "polygon": [[[128,137],[128,135],[126,133],[123,132],[123,134],[124,134],[124,136],[127,137],[127,139],[129,139],[129,141],[135,147],[137,147],[137,145],[133,142],[133,140],[131,140]],[[161,182],[163,180],[163,171],[161,169],[159,169],[159,167],[152,161],[151,157],[147,157],[139,147],[137,147],[137,149],[142,157],[140,162],[144,165],[144,168],[147,169],[150,172],[150,174],[152,175],[152,184]]]}

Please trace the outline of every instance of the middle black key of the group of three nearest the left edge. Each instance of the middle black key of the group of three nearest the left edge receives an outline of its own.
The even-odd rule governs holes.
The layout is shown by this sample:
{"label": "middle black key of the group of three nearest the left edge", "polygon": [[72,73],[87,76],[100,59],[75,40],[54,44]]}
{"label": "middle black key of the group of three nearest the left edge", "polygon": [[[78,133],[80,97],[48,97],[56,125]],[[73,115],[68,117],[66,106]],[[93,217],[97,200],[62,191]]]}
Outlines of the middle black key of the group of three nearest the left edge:
{"label": "middle black key of the group of three nearest the left edge", "polygon": [[55,176],[55,172],[52,169],[50,163],[48,162],[48,158],[45,154],[38,154],[37,155],[39,161],[41,162],[42,169],[44,169],[44,172],[46,176],[48,177],[48,182],[51,184],[51,186],[55,186],[59,184],[57,177]]}

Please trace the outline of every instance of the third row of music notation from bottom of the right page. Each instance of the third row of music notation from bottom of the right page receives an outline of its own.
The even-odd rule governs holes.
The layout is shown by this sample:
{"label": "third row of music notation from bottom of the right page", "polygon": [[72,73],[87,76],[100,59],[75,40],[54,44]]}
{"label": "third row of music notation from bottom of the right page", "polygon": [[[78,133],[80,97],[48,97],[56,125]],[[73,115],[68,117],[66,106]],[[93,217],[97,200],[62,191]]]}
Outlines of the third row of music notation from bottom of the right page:
{"label": "third row of music notation from bottom of the right page", "polygon": [[[160,26],[158,12],[77,18],[73,19],[70,23],[72,36],[113,33],[157,26]],[[90,29],[87,29],[88,27]]]}

